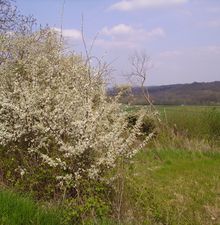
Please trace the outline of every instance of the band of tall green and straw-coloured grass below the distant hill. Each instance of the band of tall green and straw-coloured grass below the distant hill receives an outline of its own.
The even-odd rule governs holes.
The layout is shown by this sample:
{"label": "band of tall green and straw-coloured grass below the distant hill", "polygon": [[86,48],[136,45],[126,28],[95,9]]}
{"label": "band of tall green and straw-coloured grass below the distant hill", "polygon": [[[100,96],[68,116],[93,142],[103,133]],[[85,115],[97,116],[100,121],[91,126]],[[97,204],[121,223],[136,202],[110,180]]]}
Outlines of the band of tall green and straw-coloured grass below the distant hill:
{"label": "band of tall green and straw-coloured grass below the distant hill", "polygon": [[[146,106],[125,106],[131,114]],[[154,143],[158,148],[214,150],[220,147],[220,107],[157,106],[162,123]]]}

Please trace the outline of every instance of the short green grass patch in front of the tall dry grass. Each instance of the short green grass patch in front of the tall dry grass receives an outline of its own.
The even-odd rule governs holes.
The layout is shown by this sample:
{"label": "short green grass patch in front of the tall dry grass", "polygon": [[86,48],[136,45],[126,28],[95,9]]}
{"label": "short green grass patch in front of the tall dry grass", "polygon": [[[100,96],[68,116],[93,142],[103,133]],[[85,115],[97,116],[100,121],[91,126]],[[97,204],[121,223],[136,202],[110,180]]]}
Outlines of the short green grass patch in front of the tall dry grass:
{"label": "short green grass patch in front of the tall dry grass", "polygon": [[220,153],[168,149],[138,154],[127,172],[127,192],[135,193],[131,207],[140,224],[220,224],[219,165]]}

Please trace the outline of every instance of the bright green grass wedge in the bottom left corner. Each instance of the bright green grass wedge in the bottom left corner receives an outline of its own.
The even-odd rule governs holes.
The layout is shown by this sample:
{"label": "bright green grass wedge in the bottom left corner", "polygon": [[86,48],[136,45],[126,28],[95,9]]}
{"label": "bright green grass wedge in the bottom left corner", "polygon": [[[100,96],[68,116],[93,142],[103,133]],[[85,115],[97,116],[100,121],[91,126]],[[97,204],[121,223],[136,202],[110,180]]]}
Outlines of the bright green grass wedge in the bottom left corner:
{"label": "bright green grass wedge in the bottom left corner", "polygon": [[58,225],[60,213],[37,205],[28,197],[0,190],[1,225]]}

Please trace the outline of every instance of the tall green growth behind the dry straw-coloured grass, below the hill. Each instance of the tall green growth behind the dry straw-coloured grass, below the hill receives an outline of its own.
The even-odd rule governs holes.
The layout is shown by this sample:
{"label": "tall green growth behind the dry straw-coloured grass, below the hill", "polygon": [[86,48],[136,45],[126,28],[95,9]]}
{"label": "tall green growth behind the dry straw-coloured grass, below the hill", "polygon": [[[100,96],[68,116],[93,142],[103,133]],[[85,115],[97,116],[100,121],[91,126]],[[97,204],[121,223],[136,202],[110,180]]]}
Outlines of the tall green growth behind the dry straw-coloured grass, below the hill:
{"label": "tall green growth behind the dry straw-coloured grass, below the hill", "polygon": [[190,138],[220,145],[220,107],[158,107],[161,118]]}

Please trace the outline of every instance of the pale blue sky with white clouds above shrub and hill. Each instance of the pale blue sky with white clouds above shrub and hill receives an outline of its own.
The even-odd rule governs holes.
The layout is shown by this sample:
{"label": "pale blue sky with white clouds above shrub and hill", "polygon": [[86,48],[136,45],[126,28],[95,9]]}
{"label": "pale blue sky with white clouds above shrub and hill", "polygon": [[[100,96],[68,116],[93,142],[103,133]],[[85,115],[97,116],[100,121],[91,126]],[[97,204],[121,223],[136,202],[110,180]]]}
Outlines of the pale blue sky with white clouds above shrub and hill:
{"label": "pale blue sky with white clouds above shrub and hill", "polygon": [[[126,83],[129,56],[150,56],[149,85],[220,80],[220,0],[17,0],[23,14],[57,31],[70,48],[82,50],[98,33],[93,54]],[[64,10],[62,10],[64,8]],[[63,16],[62,16],[63,12]]]}

